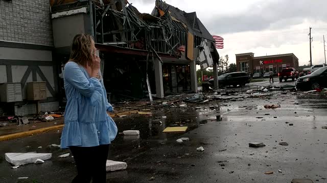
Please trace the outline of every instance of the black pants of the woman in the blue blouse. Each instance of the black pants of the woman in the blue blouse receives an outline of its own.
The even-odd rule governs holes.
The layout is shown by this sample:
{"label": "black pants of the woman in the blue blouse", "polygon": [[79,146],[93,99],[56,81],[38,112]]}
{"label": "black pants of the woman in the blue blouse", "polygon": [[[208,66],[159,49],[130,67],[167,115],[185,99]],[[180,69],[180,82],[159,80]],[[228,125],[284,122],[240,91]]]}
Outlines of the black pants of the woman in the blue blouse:
{"label": "black pants of the woman in the blue blouse", "polygon": [[106,162],[109,152],[109,144],[94,147],[71,146],[77,167],[77,176],[72,183],[93,183],[106,182]]}

